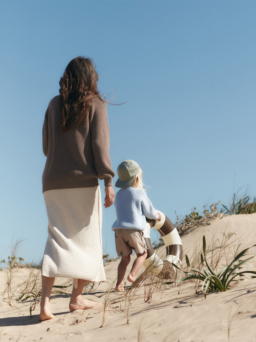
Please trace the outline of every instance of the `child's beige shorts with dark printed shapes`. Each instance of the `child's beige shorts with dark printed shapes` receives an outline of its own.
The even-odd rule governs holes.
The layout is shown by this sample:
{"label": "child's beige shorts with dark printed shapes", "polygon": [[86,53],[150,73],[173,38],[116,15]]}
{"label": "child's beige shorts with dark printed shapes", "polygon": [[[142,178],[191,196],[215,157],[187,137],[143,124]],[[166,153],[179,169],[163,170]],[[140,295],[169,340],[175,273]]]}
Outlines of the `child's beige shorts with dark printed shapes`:
{"label": "child's beige shorts with dark printed shapes", "polygon": [[115,229],[116,250],[119,257],[131,255],[134,250],[136,254],[147,251],[143,231],[138,229]]}

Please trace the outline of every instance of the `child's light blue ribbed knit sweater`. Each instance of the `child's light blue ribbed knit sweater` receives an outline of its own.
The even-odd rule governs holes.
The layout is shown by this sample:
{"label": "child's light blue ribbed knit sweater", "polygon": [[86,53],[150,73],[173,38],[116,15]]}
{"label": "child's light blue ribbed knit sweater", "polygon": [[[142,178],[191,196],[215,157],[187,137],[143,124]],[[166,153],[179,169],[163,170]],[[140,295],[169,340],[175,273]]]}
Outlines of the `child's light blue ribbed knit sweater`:
{"label": "child's light blue ribbed knit sweater", "polygon": [[116,207],[117,221],[112,225],[113,231],[119,228],[144,231],[146,217],[158,220],[158,213],[145,191],[132,186],[120,189],[116,193],[114,206]]}

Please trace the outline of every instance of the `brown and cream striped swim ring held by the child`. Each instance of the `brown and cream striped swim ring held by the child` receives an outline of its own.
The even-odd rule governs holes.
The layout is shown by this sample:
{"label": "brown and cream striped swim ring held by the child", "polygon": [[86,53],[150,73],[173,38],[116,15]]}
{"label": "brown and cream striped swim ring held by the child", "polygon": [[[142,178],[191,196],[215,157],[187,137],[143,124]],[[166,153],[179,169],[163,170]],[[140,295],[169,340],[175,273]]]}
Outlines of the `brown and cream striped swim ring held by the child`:
{"label": "brown and cream striped swim ring held by the child", "polygon": [[[147,224],[143,233],[147,245],[147,259],[143,266],[147,268],[150,264],[153,264],[154,267],[152,269],[154,274],[162,272],[163,276],[170,277],[174,271],[172,262],[177,266],[181,265],[183,254],[182,242],[172,221],[161,211],[158,210],[158,212],[161,214],[161,221],[149,220],[146,218]],[[151,244],[150,229],[152,227],[157,229],[163,238],[166,247],[166,258],[164,260],[159,258]]]}

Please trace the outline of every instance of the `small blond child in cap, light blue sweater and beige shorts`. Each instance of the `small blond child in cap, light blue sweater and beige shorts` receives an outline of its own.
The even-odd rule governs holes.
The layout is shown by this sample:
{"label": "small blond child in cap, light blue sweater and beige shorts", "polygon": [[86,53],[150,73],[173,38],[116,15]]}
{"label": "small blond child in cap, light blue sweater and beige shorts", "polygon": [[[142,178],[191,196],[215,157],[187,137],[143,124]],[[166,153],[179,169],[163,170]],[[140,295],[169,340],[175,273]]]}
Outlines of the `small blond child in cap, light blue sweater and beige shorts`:
{"label": "small blond child in cap, light blue sweater and beige shorts", "polygon": [[143,236],[146,217],[160,221],[161,215],[154,209],[143,189],[142,170],[136,161],[123,161],[118,166],[117,173],[119,178],[116,187],[121,189],[114,200],[117,221],[112,225],[112,230],[115,232],[117,254],[122,257],[118,265],[116,290],[122,291],[123,278],[131,260],[132,250],[135,250],[137,258],[127,277],[128,281],[135,281],[137,272],[147,258],[147,246]]}

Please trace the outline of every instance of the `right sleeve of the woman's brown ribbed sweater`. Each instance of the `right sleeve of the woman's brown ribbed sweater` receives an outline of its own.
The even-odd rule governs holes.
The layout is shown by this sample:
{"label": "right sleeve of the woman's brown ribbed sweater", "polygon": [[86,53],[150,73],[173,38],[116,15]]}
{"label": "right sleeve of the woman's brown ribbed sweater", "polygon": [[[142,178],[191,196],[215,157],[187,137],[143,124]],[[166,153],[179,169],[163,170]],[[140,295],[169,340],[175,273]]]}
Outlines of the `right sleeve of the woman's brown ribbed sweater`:
{"label": "right sleeve of the woman's brown ribbed sweater", "polygon": [[[95,106],[95,105],[96,106]],[[90,131],[94,165],[105,186],[113,185],[114,171],[109,157],[109,126],[106,103],[96,98],[92,105]]]}

